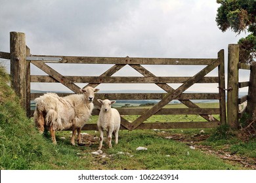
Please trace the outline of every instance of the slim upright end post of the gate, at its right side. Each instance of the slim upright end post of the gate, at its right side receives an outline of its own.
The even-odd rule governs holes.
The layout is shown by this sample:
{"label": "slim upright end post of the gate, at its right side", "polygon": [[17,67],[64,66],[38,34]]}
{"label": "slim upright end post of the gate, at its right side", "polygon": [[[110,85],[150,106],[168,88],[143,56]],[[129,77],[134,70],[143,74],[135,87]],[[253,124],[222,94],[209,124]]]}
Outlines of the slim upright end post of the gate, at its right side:
{"label": "slim upright end post of the gate, at its right side", "polygon": [[225,93],[225,71],[224,71],[224,50],[218,52],[219,59],[219,108],[221,110],[221,124],[226,124],[226,93]]}

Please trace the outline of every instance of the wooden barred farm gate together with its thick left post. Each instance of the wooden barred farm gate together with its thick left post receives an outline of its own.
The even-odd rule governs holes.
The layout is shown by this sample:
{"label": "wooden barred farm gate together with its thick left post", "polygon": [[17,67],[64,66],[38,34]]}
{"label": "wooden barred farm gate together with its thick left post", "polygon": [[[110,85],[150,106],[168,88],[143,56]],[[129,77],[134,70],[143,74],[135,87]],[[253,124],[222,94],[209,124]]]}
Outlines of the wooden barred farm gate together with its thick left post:
{"label": "wooden barred farm gate together with its thick left post", "polygon": [[[20,44],[22,42],[22,44]],[[23,106],[26,106],[28,116],[33,114],[30,110],[30,101],[39,97],[42,93],[30,93],[31,82],[59,82],[79,93],[79,87],[75,83],[88,83],[87,86],[96,87],[99,84],[106,83],[151,83],[156,84],[167,93],[98,93],[97,99],[110,100],[148,100],[158,99],[159,103],[151,108],[118,108],[121,115],[140,115],[133,122],[121,117],[121,126],[123,129],[171,129],[171,128],[205,128],[217,127],[220,124],[226,124],[226,105],[225,105],[225,84],[224,84],[224,50],[220,50],[217,58],[190,59],[190,58],[106,58],[106,57],[77,57],[77,56],[42,56],[30,54],[30,49],[26,47],[24,33],[11,33],[11,75],[19,78],[18,84],[22,89],[20,97],[23,100]],[[44,71],[48,76],[30,75],[30,63]],[[112,64],[113,66],[102,73],[100,76],[63,76],[47,63],[81,63],[81,64]],[[112,76],[122,69],[125,65],[138,71],[143,76]],[[188,76],[156,76],[150,73],[142,65],[205,65],[205,67],[196,75]],[[213,69],[218,69],[217,76],[205,76]],[[24,78],[22,79],[22,76]],[[167,84],[168,83],[168,84]],[[171,88],[171,83],[182,83],[176,90]],[[219,84],[218,93],[183,93],[196,83],[217,83]],[[15,80],[14,80],[15,85]],[[58,93],[60,96],[66,95]],[[98,114],[100,104],[96,101],[93,114]],[[163,108],[173,101],[179,100],[188,108]],[[218,99],[219,108],[200,108],[193,103],[192,99]],[[198,114],[205,118],[207,122],[154,122],[144,123],[154,114]],[[209,120],[208,114],[219,114],[220,120],[214,118]],[[96,124],[86,124],[83,130],[97,129]]]}

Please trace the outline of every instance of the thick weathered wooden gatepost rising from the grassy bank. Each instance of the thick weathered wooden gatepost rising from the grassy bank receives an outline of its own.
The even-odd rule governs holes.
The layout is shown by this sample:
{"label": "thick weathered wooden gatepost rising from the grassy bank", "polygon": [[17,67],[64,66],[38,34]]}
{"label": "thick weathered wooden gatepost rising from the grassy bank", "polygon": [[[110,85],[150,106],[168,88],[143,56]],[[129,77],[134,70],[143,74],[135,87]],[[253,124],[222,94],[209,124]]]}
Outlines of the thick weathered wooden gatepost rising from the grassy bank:
{"label": "thick weathered wooden gatepost rising from the grassy bank", "polygon": [[24,33],[10,33],[12,88],[26,109],[26,38]]}

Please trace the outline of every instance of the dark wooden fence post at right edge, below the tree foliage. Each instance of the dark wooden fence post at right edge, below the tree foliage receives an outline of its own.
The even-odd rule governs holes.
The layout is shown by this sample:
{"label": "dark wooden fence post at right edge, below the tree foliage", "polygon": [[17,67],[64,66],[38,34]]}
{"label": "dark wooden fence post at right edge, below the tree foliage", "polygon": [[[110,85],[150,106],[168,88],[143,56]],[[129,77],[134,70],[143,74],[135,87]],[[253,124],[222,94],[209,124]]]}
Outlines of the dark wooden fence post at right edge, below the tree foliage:
{"label": "dark wooden fence post at right edge, below the tree foliage", "polygon": [[[253,112],[256,110],[256,62],[251,63],[251,74],[249,78],[247,112],[250,120],[253,120]],[[256,115],[256,114],[255,114]]]}

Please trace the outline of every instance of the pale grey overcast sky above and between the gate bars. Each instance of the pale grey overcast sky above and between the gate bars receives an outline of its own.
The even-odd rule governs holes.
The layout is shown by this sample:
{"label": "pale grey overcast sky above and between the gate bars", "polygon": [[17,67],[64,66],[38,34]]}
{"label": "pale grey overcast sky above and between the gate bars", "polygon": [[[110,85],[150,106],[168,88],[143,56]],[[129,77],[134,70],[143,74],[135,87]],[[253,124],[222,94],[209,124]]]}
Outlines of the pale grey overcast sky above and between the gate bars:
{"label": "pale grey overcast sky above and between the gate bars", "polygon": [[[9,52],[11,31],[26,33],[32,54],[150,58],[216,58],[219,50],[245,34],[221,32],[215,22],[215,0],[1,0],[0,51]],[[226,57],[227,58],[227,57]],[[227,61],[227,60],[226,60]],[[9,67],[9,61],[2,61]],[[53,65],[62,75],[97,76],[111,65]],[[202,67],[145,66],[157,76],[192,76]],[[128,74],[127,74],[128,73]],[[215,75],[216,71],[212,75]],[[32,74],[43,74],[32,67]],[[140,76],[128,66],[115,76]],[[248,76],[241,80],[246,80]],[[247,75],[247,73],[245,73]],[[84,84],[78,84],[83,87]],[[49,86],[51,89],[45,89]],[[178,85],[172,85],[177,88]],[[101,90],[159,90],[154,84],[101,84]],[[211,90],[209,90],[211,88]],[[32,84],[34,90],[65,90],[53,84]],[[190,91],[216,92],[217,86]]]}

